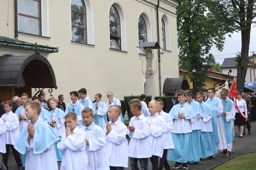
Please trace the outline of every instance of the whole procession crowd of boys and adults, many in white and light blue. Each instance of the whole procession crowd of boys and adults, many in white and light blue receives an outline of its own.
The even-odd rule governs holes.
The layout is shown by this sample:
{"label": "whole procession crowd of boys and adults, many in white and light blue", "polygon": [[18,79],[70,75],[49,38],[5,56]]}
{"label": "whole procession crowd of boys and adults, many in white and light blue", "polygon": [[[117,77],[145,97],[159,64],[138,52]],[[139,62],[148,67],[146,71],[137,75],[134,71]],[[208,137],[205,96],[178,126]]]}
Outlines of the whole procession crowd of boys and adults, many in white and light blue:
{"label": "whole procession crowd of boys and adults, many in white and light blue", "polygon": [[82,88],[70,92],[67,106],[63,95],[46,104],[43,90],[32,99],[26,93],[12,101],[0,99],[0,169],[8,169],[9,151],[19,170],[55,170],[58,161],[61,170],[122,170],[128,157],[132,170],[139,169],[138,160],[141,169],[148,169],[148,158],[153,170],[171,169],[168,160],[176,162],[173,169],[188,169],[190,162],[213,159],[217,150],[228,156],[234,125],[242,138],[245,128],[251,134],[250,121],[256,120],[255,95],[250,98],[243,90],[233,101],[225,89],[219,99],[214,88],[195,96],[178,88],[169,114],[163,100],[147,106],[142,94],[141,100],[129,102],[134,116],[128,127],[120,100],[112,92],[106,96],[107,103],[101,94],[93,101]]}

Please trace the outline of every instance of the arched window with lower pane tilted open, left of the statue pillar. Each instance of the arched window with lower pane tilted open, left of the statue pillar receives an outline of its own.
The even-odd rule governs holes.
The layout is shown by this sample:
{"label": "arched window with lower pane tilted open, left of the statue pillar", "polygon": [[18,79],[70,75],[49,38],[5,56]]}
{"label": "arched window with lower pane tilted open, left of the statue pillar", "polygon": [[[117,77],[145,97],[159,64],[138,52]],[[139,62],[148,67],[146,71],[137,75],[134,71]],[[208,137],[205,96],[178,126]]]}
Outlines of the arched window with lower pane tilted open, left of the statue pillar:
{"label": "arched window with lower pane tilted open, left of the statue pillar", "polygon": [[114,5],[109,10],[110,48],[121,50],[121,24],[118,11]]}

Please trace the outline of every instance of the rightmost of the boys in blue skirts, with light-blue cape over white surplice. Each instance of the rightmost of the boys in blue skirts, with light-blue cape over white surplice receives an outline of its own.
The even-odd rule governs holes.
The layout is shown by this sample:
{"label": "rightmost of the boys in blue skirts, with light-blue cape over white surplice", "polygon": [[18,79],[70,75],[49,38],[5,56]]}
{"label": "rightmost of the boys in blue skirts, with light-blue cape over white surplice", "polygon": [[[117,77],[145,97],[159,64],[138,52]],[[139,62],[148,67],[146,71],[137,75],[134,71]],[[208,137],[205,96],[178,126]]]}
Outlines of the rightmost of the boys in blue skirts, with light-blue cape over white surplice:
{"label": "rightmost of the boys in blue skirts, with light-blue cape over white surplice", "polygon": [[196,94],[197,102],[203,107],[202,121],[201,121],[201,134],[200,134],[200,158],[213,158],[217,154],[217,148],[212,132],[212,107],[203,101],[202,92]]}

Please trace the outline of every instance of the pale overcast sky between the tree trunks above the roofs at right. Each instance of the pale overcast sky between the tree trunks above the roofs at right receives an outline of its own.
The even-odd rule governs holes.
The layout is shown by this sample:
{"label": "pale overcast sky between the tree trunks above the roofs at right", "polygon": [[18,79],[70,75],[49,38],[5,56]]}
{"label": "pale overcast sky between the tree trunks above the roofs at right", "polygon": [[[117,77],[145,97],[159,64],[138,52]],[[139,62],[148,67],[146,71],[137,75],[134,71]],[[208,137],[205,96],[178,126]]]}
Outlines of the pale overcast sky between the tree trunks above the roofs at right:
{"label": "pale overcast sky between the tree trunks above the roofs at right", "polygon": [[[213,46],[209,53],[214,55],[216,62],[222,64],[224,58],[235,57],[237,51],[241,52],[241,32],[233,33],[231,38],[226,35],[226,40],[222,52],[218,51],[216,46]],[[256,27],[252,27],[251,29],[249,52],[252,51],[256,51]],[[252,53],[249,53],[248,55],[252,55]]]}

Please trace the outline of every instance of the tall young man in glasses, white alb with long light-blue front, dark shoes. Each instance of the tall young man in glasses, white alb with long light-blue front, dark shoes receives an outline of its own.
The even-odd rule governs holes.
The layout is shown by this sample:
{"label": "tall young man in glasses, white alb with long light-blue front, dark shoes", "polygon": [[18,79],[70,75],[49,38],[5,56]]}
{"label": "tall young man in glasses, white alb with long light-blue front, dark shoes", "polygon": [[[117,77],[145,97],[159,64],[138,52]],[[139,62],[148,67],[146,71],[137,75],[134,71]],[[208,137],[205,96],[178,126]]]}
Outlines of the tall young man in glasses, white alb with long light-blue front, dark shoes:
{"label": "tall young man in glasses, white alb with long light-blue front, dark shoes", "polygon": [[228,156],[228,149],[227,149],[227,140],[226,140],[226,133],[225,133],[225,126],[222,120],[223,117],[223,104],[221,100],[215,97],[215,89],[209,88],[207,91],[207,95],[209,99],[206,103],[210,104],[212,107],[212,129],[213,129],[213,136],[216,143],[217,150],[223,150],[223,156]]}

